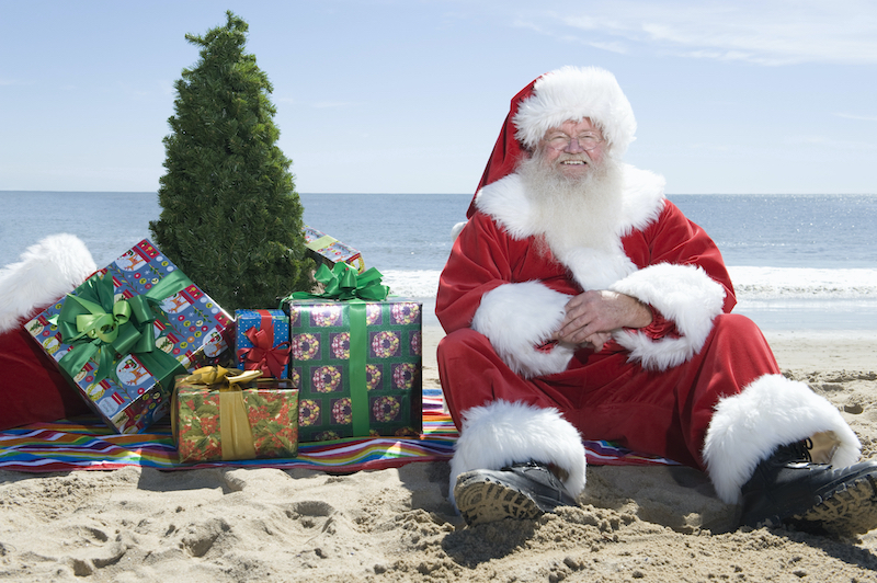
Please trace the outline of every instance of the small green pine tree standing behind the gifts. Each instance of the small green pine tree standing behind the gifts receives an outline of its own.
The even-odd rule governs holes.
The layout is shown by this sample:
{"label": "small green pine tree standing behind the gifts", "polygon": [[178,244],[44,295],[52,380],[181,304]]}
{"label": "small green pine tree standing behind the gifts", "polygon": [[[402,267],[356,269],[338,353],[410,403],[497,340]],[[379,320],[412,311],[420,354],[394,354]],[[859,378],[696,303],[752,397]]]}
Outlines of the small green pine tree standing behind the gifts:
{"label": "small green pine tree standing behind the gifts", "polygon": [[156,244],[220,306],[276,307],[314,286],[301,203],[280,132],[267,76],[244,53],[247,23],[227,12],[204,36],[194,68],[175,83],[173,133],[164,138]]}

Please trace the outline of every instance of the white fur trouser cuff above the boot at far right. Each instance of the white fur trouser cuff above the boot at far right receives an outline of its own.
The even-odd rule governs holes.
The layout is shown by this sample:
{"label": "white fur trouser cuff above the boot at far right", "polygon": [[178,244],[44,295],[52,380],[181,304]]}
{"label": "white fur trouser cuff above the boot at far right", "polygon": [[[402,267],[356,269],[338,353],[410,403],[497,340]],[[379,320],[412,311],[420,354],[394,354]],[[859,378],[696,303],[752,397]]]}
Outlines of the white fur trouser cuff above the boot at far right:
{"label": "white fur trouser cuff above the boot at far right", "polygon": [[704,461],[719,498],[736,504],[755,466],[774,450],[819,432],[834,432],[838,467],[858,459],[862,444],[840,411],[804,382],[764,375],[716,405],[704,441]]}

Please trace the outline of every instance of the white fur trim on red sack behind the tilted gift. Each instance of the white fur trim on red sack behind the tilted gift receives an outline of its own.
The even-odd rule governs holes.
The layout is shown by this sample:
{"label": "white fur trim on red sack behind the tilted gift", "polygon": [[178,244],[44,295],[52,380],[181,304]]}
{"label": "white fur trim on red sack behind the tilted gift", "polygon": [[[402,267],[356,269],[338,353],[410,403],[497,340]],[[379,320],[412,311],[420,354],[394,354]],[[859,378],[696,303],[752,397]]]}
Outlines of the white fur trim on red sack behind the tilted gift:
{"label": "white fur trim on red sack behind the tilted gift", "polygon": [[21,261],[0,270],[0,333],[18,328],[34,308],[72,292],[96,270],[73,235],[53,235],[29,247]]}

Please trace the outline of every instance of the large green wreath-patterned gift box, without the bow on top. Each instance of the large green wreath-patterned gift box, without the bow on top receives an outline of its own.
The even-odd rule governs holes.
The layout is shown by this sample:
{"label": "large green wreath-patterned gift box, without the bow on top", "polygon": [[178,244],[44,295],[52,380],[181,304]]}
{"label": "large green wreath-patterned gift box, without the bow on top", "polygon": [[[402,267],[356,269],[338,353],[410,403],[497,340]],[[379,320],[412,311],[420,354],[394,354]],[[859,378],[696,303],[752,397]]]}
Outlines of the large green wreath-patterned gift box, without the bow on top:
{"label": "large green wreath-patterned gift box, without the bow on top", "polygon": [[421,433],[421,307],[284,300],[301,442]]}

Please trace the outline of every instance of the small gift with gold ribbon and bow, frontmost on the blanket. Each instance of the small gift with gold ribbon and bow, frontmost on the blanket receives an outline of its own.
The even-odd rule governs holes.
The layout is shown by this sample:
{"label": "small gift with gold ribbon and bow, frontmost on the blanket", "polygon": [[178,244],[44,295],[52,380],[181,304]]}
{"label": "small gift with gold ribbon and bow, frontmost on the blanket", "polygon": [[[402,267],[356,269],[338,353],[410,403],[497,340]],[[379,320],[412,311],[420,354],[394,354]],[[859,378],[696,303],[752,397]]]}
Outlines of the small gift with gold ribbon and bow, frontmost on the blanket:
{"label": "small gift with gold ribbon and bow, frontmost on the blanket", "polygon": [[171,427],[180,462],[298,455],[298,389],[261,375],[212,366],[176,378]]}

